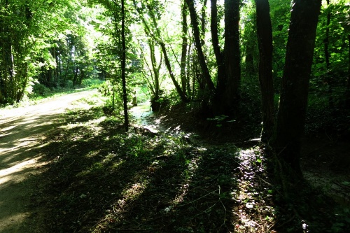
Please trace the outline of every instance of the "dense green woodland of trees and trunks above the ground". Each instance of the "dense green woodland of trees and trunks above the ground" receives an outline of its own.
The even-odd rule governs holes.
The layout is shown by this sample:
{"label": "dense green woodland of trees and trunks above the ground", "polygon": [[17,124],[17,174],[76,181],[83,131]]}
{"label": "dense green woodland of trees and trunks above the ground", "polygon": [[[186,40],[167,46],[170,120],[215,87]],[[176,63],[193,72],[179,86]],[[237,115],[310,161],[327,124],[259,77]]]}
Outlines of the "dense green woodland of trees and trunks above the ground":
{"label": "dense green woodland of trees and trunks above the ground", "polygon": [[0,2],[3,106],[103,80],[104,113],[127,131],[134,96],[207,131],[258,125],[286,195],[302,181],[305,122],[349,137],[349,0]]}

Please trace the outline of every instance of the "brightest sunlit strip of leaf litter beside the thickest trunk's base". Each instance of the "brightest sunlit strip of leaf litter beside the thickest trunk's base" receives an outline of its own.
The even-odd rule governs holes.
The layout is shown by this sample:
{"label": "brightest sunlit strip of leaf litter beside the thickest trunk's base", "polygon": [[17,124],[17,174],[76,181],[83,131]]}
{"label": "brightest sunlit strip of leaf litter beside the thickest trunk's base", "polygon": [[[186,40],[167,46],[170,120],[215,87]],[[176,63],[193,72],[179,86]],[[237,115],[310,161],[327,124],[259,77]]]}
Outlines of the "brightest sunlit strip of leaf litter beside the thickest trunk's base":
{"label": "brightest sunlit strip of leaf litter beside the thickest trunk's base", "polygon": [[234,210],[236,232],[269,232],[275,218],[274,208],[265,202],[271,197],[267,188],[272,188],[265,174],[265,158],[258,148],[248,148],[241,150],[237,159],[237,190],[231,193],[238,204]]}

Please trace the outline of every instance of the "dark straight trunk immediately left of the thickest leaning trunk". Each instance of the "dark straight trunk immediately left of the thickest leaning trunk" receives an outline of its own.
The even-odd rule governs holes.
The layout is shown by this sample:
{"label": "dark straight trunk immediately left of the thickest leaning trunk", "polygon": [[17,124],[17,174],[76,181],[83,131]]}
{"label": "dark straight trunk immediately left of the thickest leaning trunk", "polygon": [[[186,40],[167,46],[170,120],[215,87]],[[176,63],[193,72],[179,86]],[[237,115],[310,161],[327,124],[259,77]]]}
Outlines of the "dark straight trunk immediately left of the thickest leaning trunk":
{"label": "dark straight trunk immediately left of the thickest leaning trunk", "polygon": [[262,101],[261,141],[267,143],[274,129],[274,85],[272,78],[272,26],[269,1],[255,0],[259,45],[259,81]]}

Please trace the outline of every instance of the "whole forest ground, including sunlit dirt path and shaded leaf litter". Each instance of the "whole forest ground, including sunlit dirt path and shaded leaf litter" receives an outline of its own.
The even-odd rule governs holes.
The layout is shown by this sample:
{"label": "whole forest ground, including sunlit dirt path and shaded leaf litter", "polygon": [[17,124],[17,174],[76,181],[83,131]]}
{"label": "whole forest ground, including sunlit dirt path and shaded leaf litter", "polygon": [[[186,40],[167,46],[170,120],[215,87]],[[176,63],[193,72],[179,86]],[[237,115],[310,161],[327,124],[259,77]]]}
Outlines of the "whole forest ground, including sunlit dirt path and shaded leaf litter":
{"label": "whole forest ground, including sunlit dirt path and shaded leaf litter", "polygon": [[346,232],[349,143],[305,139],[304,175],[322,192],[300,190],[317,202],[299,202],[302,216],[249,140],[258,129],[216,134],[184,112],[134,107],[126,134],[96,91],[0,111],[0,232]]}

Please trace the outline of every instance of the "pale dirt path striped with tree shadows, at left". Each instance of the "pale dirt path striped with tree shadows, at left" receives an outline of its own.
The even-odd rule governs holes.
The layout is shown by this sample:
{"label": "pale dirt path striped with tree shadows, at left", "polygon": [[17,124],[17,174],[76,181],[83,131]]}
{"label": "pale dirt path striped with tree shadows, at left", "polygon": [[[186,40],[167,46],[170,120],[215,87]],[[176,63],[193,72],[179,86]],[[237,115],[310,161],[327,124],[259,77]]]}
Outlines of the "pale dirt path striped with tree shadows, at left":
{"label": "pale dirt path striped with tree shadows, at left", "polygon": [[[0,232],[32,231],[29,225],[31,195],[36,195],[36,184],[28,179],[41,172],[41,136],[55,127],[59,115],[77,108],[74,101],[96,93],[89,90],[66,94],[22,108],[0,110]],[[34,224],[35,225],[35,224]]]}

